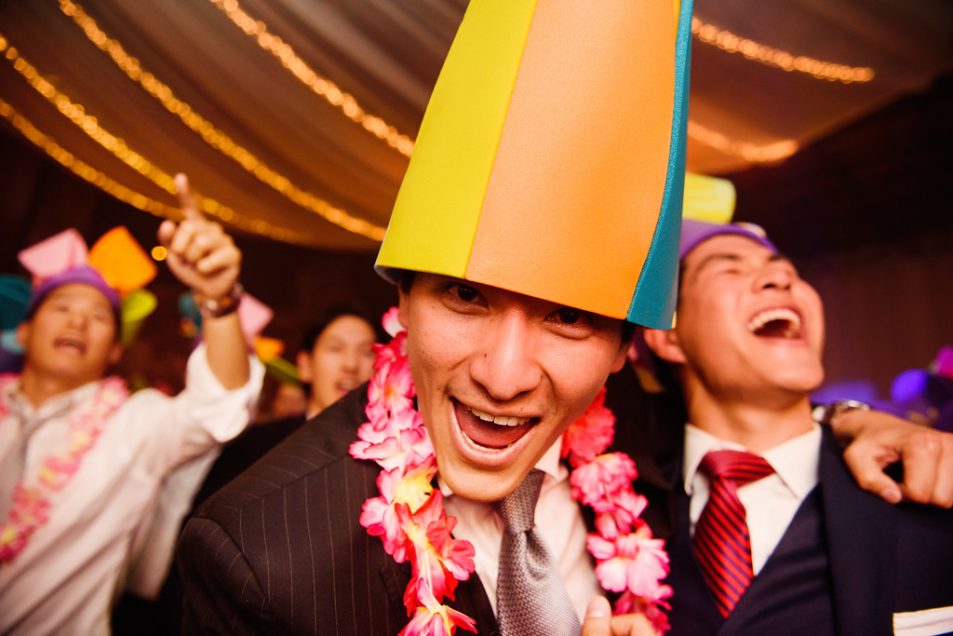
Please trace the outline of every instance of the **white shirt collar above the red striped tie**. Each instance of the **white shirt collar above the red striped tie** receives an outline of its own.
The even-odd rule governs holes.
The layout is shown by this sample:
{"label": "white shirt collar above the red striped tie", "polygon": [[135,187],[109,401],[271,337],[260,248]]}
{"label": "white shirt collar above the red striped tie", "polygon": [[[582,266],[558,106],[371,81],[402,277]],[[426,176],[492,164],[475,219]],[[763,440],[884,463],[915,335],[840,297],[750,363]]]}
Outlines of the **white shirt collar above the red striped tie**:
{"label": "white shirt collar above the red striped tie", "polygon": [[[821,427],[813,424],[810,431],[778,444],[761,456],[771,464],[781,482],[795,496],[803,499],[817,485],[820,446]],[[723,449],[748,450],[740,444],[719,439],[693,424],[685,425],[685,461],[682,470],[686,493],[691,495],[694,491],[692,483],[705,453]]]}

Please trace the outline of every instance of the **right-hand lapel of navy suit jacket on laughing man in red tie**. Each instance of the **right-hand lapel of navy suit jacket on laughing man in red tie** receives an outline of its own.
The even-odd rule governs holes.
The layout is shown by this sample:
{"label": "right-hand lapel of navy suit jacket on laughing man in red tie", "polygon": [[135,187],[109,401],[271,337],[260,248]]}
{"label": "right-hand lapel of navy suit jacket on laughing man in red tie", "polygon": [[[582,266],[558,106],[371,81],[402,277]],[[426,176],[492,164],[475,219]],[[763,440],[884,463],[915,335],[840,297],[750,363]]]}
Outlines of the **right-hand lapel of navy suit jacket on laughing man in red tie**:
{"label": "right-hand lapel of navy suit jacket on laughing man in red tie", "polygon": [[857,486],[826,428],[819,472],[838,632],[884,633],[897,578],[896,508]]}

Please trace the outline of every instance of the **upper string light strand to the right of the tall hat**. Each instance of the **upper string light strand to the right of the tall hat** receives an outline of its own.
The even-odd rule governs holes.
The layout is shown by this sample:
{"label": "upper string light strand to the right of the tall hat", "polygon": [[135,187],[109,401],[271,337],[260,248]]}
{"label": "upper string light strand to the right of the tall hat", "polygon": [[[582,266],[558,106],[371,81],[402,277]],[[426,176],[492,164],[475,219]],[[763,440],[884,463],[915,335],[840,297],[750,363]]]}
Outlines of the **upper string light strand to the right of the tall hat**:
{"label": "upper string light strand to the right of the tall hat", "polygon": [[699,41],[717,46],[728,53],[739,53],[749,60],[774,66],[781,70],[804,73],[817,79],[844,84],[866,83],[874,79],[874,69],[869,66],[847,66],[817,60],[806,55],[794,55],[760,42],[735,35],[701,19],[692,18],[692,33]]}

